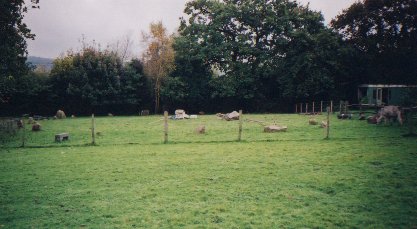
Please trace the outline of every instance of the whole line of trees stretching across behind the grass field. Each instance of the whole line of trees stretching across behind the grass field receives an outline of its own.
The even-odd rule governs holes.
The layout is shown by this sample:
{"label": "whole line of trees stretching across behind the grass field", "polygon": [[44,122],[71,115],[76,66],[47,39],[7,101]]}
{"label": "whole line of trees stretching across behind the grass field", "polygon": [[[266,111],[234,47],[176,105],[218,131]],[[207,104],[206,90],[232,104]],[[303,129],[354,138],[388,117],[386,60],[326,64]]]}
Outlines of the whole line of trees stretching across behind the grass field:
{"label": "whole line of trees stretching across behind the grass field", "polygon": [[177,33],[150,25],[142,58],[84,44],[50,72],[24,63],[34,38],[19,19],[24,2],[2,4],[2,115],[286,112],[297,102],[356,101],[363,83],[417,84],[415,0],[358,1],[329,26],[295,1],[194,0]]}

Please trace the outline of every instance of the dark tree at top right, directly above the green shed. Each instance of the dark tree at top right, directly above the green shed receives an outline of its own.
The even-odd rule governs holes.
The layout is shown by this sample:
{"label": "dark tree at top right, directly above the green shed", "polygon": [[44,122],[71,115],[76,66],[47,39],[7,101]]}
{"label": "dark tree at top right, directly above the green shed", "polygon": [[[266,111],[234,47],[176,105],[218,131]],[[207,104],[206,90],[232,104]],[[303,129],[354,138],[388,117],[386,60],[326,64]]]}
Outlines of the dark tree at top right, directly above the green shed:
{"label": "dark tree at top right, directly above the green shed", "polygon": [[361,59],[362,83],[417,83],[417,1],[365,0],[331,22]]}

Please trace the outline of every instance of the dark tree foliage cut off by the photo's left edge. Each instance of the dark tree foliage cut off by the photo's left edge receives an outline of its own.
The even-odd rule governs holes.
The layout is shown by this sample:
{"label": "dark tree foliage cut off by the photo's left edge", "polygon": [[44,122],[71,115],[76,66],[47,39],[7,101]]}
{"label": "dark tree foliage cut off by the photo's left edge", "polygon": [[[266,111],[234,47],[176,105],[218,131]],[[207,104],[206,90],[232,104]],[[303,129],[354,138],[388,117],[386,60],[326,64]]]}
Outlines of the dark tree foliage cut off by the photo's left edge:
{"label": "dark tree foliage cut off by the photo's left edge", "polygon": [[[39,8],[38,3],[39,0],[31,0],[31,7]],[[25,39],[34,39],[35,35],[23,22],[27,11],[24,0],[0,0],[0,103],[8,103],[17,78],[29,70],[25,63]]]}

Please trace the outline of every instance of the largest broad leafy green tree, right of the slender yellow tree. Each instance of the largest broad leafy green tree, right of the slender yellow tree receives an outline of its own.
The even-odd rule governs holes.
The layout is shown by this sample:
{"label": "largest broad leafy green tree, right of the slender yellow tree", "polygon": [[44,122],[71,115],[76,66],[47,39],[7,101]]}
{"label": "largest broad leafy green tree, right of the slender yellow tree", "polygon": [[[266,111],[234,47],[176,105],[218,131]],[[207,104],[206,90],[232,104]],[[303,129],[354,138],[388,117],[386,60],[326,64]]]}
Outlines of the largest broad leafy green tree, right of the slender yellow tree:
{"label": "largest broad leafy green tree, right of the slender yellow tree", "polygon": [[211,80],[214,99],[260,110],[334,90],[340,65],[329,57],[337,56],[341,39],[308,6],[287,0],[194,0],[184,12],[180,35],[189,43],[189,55],[220,73]]}

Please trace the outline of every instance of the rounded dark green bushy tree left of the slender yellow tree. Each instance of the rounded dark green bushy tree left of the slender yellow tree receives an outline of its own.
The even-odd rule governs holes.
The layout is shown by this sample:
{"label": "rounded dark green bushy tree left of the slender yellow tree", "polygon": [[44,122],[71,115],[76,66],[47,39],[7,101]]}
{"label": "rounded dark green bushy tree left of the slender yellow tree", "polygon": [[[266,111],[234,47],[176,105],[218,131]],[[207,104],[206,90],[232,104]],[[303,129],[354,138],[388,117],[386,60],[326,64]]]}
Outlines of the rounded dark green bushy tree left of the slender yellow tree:
{"label": "rounded dark green bushy tree left of the slender yellow tree", "polygon": [[121,112],[143,105],[147,93],[143,66],[132,60],[125,67],[109,50],[85,46],[54,61],[51,80],[56,105],[69,112]]}

